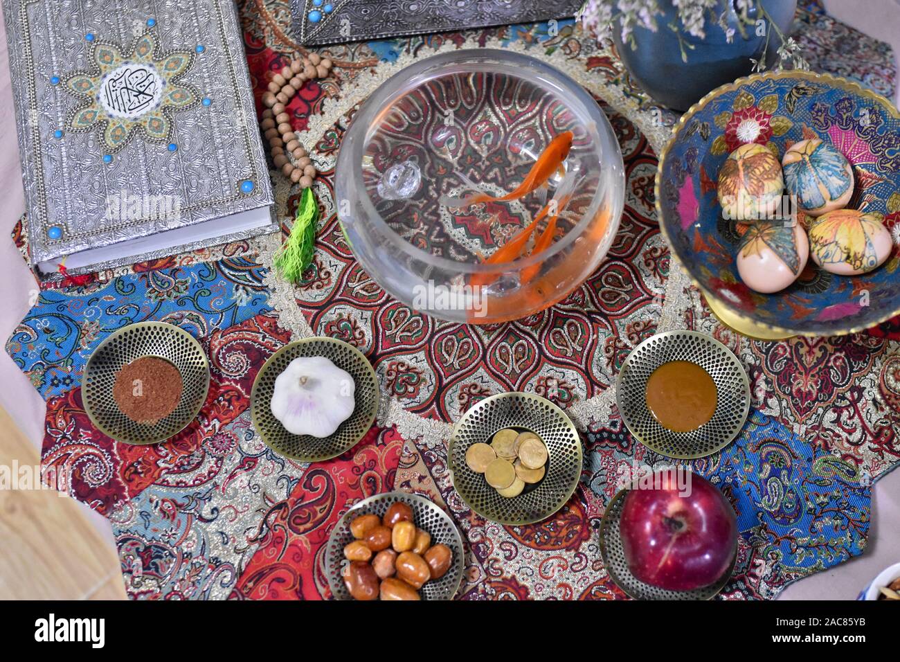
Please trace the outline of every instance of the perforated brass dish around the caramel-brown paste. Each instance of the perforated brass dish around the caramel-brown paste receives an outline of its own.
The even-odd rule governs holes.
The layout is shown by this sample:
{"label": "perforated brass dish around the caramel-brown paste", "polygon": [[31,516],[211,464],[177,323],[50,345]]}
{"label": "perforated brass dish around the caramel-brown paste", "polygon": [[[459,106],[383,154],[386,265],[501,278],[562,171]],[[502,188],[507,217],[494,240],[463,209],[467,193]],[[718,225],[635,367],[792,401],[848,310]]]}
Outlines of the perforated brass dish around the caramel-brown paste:
{"label": "perforated brass dish around the caramel-brown paste", "polygon": [[[647,407],[647,380],[670,361],[690,361],[716,384],[716,413],[697,430],[663,428]],[[635,439],[670,458],[704,458],[737,436],[750,413],[750,380],[741,362],[721,342],[698,331],[657,333],[631,350],[616,378],[616,402]]]}

